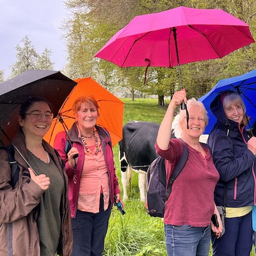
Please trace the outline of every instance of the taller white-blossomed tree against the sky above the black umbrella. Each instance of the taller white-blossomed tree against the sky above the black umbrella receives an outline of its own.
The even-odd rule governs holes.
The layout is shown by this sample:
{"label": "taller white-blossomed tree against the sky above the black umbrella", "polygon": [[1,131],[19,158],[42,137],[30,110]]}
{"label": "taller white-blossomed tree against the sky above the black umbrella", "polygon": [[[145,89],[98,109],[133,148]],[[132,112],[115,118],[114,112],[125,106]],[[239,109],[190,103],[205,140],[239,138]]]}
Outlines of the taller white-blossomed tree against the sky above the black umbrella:
{"label": "taller white-blossomed tree against the sky above the black umbrella", "polygon": [[24,36],[20,42],[23,44],[23,47],[20,45],[15,47],[17,50],[17,61],[12,65],[11,77],[17,76],[25,70],[35,69],[39,57],[35,47],[31,45],[28,35]]}

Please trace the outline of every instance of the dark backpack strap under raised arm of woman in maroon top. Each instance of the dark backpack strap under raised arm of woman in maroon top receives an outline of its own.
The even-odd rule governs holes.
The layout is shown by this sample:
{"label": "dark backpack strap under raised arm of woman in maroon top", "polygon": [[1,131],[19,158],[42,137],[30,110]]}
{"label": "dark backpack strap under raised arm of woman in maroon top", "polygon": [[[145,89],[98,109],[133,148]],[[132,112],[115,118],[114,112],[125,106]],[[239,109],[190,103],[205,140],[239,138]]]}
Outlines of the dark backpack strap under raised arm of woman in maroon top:
{"label": "dark backpack strap under raised arm of woman in maroon top", "polygon": [[181,138],[179,138],[178,140],[180,140],[182,142],[183,150],[181,152],[181,155],[180,155],[180,158],[179,158],[177,164],[175,165],[175,168],[174,168],[173,173],[169,179],[169,182],[167,183],[166,193],[165,193],[166,200],[168,199],[170,193],[172,192],[173,181],[178,177],[178,175],[180,174],[180,172],[182,171],[182,169],[184,168],[184,166],[188,160],[188,147],[187,147],[186,143]]}

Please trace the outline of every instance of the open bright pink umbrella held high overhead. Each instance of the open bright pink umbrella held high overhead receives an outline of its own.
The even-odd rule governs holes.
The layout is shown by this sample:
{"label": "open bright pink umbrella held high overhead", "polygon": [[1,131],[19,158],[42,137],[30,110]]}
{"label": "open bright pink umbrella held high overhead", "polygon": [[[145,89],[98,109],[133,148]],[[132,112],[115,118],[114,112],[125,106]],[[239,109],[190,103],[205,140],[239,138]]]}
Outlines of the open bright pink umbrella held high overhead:
{"label": "open bright pink umbrella held high overhead", "polygon": [[[177,7],[140,15],[95,57],[120,67],[173,67],[222,58],[254,41],[248,24],[220,9]],[[179,45],[179,49],[178,49]]]}

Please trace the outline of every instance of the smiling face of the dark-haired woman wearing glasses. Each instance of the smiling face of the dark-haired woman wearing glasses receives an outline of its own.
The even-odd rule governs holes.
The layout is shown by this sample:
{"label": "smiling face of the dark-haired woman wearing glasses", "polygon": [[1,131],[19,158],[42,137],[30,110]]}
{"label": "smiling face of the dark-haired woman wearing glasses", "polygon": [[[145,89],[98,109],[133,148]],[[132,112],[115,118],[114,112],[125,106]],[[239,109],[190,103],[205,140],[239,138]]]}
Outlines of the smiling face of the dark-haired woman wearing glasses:
{"label": "smiling face of the dark-haired woman wearing glasses", "polygon": [[[43,115],[42,115],[43,114]],[[29,106],[24,118],[19,118],[20,127],[26,138],[43,138],[52,124],[51,108],[46,102],[34,102]]]}

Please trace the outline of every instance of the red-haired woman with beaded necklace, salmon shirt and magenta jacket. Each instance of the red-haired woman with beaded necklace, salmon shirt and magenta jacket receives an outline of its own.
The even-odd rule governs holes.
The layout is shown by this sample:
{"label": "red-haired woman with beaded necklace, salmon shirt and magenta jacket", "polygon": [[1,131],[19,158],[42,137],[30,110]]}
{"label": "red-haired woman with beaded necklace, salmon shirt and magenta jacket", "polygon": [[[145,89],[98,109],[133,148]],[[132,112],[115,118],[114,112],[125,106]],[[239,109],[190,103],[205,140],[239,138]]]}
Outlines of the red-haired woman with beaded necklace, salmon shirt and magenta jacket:
{"label": "red-haired woman with beaded necklace, salmon shirt and magenta jacket", "polygon": [[79,97],[73,111],[76,122],[68,131],[72,147],[67,152],[66,132],[57,134],[54,141],[54,148],[66,162],[74,236],[72,255],[100,256],[114,195],[116,202],[123,202],[109,133],[96,125],[97,101],[91,96]]}

